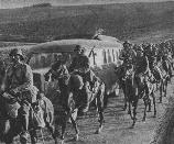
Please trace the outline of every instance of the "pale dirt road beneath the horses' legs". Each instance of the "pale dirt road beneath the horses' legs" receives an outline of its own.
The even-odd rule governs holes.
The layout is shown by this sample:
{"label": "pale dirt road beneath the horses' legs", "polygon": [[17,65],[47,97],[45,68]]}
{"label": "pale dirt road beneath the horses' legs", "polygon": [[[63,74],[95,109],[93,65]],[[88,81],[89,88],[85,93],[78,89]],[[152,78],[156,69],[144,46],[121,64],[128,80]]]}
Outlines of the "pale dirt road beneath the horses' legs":
{"label": "pale dirt road beneath the horses' legs", "polygon": [[[174,79],[172,80],[174,84]],[[174,86],[168,85],[167,97],[163,99],[163,103],[159,103],[159,92],[156,96],[157,117],[153,118],[152,112],[146,115],[146,121],[142,122],[143,117],[143,101],[140,100],[138,107],[138,122],[134,129],[131,129],[132,120],[127,111],[122,110],[123,97],[109,98],[108,107],[105,110],[105,126],[100,134],[95,134],[97,130],[97,113],[89,111],[78,120],[78,128],[80,131],[79,141],[74,141],[75,131],[68,124],[65,135],[65,144],[149,144],[152,140],[155,126],[167,106],[168,98],[173,95]],[[51,137],[46,136],[46,144],[52,144]]]}

